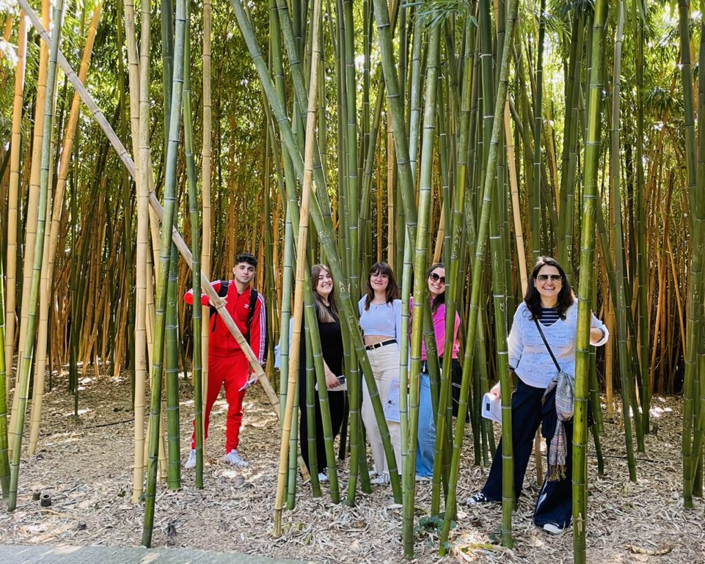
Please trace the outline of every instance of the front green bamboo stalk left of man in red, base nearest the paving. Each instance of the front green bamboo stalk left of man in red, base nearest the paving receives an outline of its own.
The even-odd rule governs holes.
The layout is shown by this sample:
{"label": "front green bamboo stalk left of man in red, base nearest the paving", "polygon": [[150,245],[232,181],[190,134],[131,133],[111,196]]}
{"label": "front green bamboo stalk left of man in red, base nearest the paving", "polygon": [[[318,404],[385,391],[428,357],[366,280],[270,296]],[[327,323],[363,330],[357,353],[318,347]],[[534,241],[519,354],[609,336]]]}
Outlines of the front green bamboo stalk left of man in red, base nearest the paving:
{"label": "front green bamboo stalk left of man in red, base nearest the paving", "polygon": [[185,44],[185,0],[176,3],[176,35],[174,41],[173,85],[171,90],[171,117],[166,152],[164,184],[164,216],[161,220],[159,245],[159,278],[157,299],[154,305],[154,353],[152,362],[152,390],[149,407],[149,462],[147,465],[147,488],[145,489],[145,522],[142,529],[142,544],[152,546],[154,528],[154,501],[157,489],[157,458],[159,455],[159,427],[161,412],[161,379],[164,358],[164,330],[166,325],[166,298],[168,271],[171,259],[171,230],[173,228],[176,202],[176,159],[181,116],[181,94],[183,92],[183,62]]}

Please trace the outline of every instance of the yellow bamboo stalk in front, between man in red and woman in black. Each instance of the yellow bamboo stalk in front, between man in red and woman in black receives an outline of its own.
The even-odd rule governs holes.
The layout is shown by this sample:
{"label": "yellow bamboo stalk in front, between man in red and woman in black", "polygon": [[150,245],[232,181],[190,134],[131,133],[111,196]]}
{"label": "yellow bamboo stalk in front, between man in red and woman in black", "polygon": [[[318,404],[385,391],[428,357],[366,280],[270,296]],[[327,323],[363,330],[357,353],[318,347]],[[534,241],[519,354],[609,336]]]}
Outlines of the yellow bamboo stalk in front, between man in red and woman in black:
{"label": "yellow bamboo stalk in front, between man in red and woman in black", "polygon": [[289,439],[291,436],[291,419],[294,411],[294,391],[298,389],[299,349],[301,343],[301,316],[303,313],[304,284],[306,277],[306,242],[308,238],[309,206],[311,203],[311,185],[313,182],[313,149],[316,137],[316,87],[318,78],[319,20],[321,19],[321,0],[314,1],[311,73],[309,81],[309,102],[306,116],[306,142],[304,146],[304,178],[301,187],[301,209],[299,218],[299,234],[296,246],[296,287],[294,290],[294,326],[289,355],[288,393],[286,394],[286,410],[284,411],[281,431],[281,448],[279,449],[279,474],[276,484],[276,499],[274,501],[274,532],[275,538],[281,537],[281,510],[284,506],[288,474]]}

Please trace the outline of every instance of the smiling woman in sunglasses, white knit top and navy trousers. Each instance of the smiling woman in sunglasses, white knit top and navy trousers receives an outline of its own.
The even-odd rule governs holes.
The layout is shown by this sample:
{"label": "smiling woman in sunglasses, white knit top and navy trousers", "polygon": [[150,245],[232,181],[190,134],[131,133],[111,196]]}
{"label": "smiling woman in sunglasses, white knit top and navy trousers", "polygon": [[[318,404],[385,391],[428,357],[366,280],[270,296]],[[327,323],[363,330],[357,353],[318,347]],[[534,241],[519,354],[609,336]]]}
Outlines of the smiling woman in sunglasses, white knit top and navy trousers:
{"label": "smiling woman in sunglasses, white knit top and navy trousers", "polygon": [[[539,330],[540,325],[540,330]],[[514,448],[514,491],[517,498],[522,491],[524,474],[532,451],[534,435],[539,424],[547,443],[556,431],[555,395],[544,391],[556,376],[556,365],[541,337],[544,333],[556,361],[563,372],[575,374],[575,335],[577,304],[565,277],[563,267],[556,259],[539,257],[524,301],[514,314],[508,338],[510,371],[517,375],[517,388],[512,395],[512,439]],[[592,316],[590,344],[600,346],[607,342],[609,333],[599,319]],[[491,393],[500,398],[499,384]],[[572,516],[572,420],[565,425],[565,467],[556,479],[546,479],[541,487],[534,523],[547,532],[558,533],[570,525]],[[548,445],[547,445],[548,446]],[[548,450],[548,448],[547,448]],[[482,491],[471,496],[467,503],[476,505],[502,499],[502,442],[492,460],[492,467]]]}

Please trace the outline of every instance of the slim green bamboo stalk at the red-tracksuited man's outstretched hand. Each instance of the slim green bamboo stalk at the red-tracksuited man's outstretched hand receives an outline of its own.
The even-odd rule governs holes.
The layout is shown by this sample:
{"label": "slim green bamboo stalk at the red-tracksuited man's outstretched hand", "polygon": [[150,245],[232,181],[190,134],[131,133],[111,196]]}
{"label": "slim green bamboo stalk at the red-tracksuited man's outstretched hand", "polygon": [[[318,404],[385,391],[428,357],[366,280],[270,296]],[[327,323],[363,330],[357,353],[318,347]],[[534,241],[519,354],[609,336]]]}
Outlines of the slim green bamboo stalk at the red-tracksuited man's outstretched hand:
{"label": "slim green bamboo stalk at the red-tracksuited man's outstretched hand", "polygon": [[[191,255],[193,295],[201,295],[201,221],[198,211],[198,194],[196,178],[196,161],[193,156],[193,125],[191,115],[191,11],[188,2],[185,6],[186,35],[183,51],[183,140],[186,157],[186,176],[188,180],[188,205],[191,219]],[[192,311],[193,360],[191,376],[193,379],[194,422],[196,431],[196,487],[203,489],[203,381],[202,381],[202,307]],[[270,341],[271,342],[271,341]]]}

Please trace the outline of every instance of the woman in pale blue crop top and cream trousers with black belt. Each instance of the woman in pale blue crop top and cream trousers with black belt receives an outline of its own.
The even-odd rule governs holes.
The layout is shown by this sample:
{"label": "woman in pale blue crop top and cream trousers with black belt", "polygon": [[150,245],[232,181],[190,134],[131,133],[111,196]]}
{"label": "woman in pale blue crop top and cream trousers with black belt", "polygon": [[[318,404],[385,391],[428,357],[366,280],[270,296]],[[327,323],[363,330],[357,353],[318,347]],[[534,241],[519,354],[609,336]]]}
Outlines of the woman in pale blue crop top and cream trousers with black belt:
{"label": "woman in pale blue crop top and cream trousers with black belt", "polygon": [[[367,348],[367,357],[379,391],[382,405],[388,398],[392,405],[399,404],[399,343],[401,342],[401,300],[394,273],[386,262],[376,262],[367,276],[366,293],[362,296],[360,328]],[[391,392],[390,392],[391,388]],[[398,410],[385,410],[387,427],[391,435],[397,465],[401,464],[401,428]],[[389,467],[377,420],[372,409],[367,383],[362,381],[362,422],[372,447],[374,471],[377,476],[372,484],[389,482]],[[399,468],[399,467],[398,467]]]}

